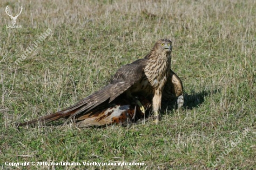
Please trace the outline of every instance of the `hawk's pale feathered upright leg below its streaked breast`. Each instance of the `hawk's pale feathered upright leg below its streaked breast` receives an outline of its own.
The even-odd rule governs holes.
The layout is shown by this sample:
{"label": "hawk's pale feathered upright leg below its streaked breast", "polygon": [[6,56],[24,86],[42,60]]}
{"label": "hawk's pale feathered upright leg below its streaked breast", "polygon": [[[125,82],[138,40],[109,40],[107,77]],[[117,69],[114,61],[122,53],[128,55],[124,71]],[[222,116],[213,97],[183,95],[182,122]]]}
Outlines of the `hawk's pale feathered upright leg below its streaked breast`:
{"label": "hawk's pale feathered upright leg below its streaked breast", "polygon": [[156,90],[152,100],[152,109],[154,112],[155,124],[159,123],[159,118],[160,118],[159,109],[161,107],[161,99],[162,99],[162,93],[159,90]]}

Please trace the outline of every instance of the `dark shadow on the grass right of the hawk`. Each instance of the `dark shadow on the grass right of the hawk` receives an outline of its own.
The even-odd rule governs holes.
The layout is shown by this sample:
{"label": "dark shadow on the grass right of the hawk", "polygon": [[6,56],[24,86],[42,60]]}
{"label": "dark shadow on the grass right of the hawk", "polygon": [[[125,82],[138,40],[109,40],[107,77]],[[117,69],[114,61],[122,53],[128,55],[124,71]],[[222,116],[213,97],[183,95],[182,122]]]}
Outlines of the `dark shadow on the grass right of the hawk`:
{"label": "dark shadow on the grass right of the hawk", "polygon": [[199,93],[195,93],[194,91],[191,92],[192,94],[185,93],[183,108],[191,110],[195,107],[199,107],[204,102],[205,97],[211,96],[220,91],[221,89],[216,89],[213,91],[203,89],[202,92]]}

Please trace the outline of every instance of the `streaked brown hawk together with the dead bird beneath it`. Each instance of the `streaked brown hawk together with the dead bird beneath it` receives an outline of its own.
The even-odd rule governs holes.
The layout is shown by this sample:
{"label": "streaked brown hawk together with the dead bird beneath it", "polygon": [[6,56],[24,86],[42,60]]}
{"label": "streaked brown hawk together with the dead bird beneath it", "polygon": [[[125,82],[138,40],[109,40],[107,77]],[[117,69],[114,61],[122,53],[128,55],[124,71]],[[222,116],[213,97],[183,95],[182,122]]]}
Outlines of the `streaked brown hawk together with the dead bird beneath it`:
{"label": "streaked brown hawk together with the dead bird beneath it", "polygon": [[183,105],[182,81],[170,69],[171,50],[171,41],[160,39],[146,57],[122,66],[98,92],[63,111],[19,125],[59,118],[73,118],[78,127],[134,122],[145,117],[145,110],[154,113],[157,124],[161,105],[167,107],[175,99],[178,108]]}

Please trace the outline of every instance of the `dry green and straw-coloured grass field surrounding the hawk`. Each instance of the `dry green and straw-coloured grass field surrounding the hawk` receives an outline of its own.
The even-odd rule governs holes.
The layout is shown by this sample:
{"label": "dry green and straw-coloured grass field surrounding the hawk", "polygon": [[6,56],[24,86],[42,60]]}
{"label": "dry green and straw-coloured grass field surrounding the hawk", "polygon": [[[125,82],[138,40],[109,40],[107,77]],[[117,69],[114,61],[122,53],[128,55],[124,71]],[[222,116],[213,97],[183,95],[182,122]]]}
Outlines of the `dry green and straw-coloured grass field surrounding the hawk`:
{"label": "dry green and straw-coloured grass field surrounding the hawk", "polygon": [[[0,168],[74,161],[81,166],[18,167],[256,169],[255,0],[19,2],[0,1]],[[7,5],[10,13],[23,7],[16,21],[22,28],[7,28]],[[121,65],[144,57],[162,38],[173,41],[171,67],[186,95],[182,109],[162,113],[160,124],[15,127],[101,89]],[[112,165],[84,166],[87,161]],[[121,162],[146,165],[113,165]]]}

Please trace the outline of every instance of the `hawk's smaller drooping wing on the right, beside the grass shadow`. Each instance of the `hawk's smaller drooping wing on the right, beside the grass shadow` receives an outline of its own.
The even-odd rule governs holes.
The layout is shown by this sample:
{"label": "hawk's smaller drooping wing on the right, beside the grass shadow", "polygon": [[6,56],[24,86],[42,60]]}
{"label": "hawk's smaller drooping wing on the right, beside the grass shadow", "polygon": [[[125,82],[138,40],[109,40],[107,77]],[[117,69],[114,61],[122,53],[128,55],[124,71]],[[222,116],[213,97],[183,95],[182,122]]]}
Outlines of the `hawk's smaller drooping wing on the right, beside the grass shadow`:
{"label": "hawk's smaller drooping wing on the right, beside the grass shadow", "polygon": [[170,70],[170,77],[168,78],[162,93],[162,108],[166,109],[175,99],[177,99],[177,108],[182,107],[184,103],[182,80],[175,74],[175,72]]}

